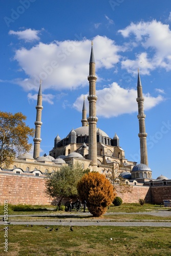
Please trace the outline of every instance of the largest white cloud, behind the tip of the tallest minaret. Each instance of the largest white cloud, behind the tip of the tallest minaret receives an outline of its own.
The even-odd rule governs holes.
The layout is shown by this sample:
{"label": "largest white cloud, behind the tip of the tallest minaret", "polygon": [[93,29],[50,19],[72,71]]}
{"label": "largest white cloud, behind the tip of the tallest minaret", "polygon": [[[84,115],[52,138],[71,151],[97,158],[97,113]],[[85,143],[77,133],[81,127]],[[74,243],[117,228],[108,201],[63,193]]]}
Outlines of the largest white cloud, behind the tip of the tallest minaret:
{"label": "largest white cloud, behind the tip of the tallest minaret", "polygon": [[[110,69],[119,61],[121,48],[105,36],[96,36],[93,42],[98,76],[100,68]],[[91,41],[88,39],[54,41],[50,44],[39,42],[31,49],[16,50],[14,59],[28,76],[19,81],[19,85],[26,91],[37,91],[42,79],[43,90],[73,90],[87,86],[90,50]]]}

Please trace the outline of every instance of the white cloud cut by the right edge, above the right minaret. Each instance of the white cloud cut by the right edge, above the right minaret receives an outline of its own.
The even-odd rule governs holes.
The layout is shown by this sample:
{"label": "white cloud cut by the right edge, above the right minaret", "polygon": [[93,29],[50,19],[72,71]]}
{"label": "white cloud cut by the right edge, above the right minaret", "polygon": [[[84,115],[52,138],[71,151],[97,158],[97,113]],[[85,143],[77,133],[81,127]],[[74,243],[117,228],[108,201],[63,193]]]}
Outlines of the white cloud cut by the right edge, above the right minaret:
{"label": "white cloud cut by the right edge, above the right minaret", "polygon": [[130,38],[130,44],[133,48],[136,46],[143,48],[143,52],[137,54],[136,59],[122,61],[122,67],[127,69],[128,72],[135,73],[137,66],[140,67],[142,74],[149,74],[150,71],[156,68],[164,68],[166,71],[171,70],[171,31],[168,25],[156,20],[137,24],[131,23],[130,26],[118,32],[123,37]]}

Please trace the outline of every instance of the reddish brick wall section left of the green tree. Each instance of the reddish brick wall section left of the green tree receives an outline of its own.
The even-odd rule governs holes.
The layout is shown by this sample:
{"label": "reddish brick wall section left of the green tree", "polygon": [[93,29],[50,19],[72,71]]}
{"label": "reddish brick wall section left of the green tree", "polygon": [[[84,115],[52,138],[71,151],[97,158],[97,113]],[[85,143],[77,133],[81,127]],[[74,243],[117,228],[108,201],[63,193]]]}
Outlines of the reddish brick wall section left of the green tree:
{"label": "reddish brick wall section left of the green tree", "polygon": [[0,175],[0,203],[49,205],[51,200],[45,194],[43,177],[23,175]]}

